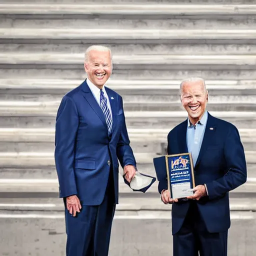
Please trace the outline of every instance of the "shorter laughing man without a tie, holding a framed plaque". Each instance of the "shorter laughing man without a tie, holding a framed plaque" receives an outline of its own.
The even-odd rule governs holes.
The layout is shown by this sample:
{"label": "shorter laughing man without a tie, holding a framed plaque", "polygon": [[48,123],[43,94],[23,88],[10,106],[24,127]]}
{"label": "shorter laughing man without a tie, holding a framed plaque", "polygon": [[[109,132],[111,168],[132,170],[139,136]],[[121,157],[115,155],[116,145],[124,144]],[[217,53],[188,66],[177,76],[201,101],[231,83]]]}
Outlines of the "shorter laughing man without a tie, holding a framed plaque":
{"label": "shorter laughing man without a tie, holding a framed plaque", "polygon": [[225,256],[230,227],[228,192],[246,181],[244,150],[237,128],[210,115],[201,78],[183,80],[180,99],[188,118],[168,134],[168,154],[190,152],[194,165],[193,196],[170,198],[166,179],[159,180],[163,203],[172,204],[174,256]]}

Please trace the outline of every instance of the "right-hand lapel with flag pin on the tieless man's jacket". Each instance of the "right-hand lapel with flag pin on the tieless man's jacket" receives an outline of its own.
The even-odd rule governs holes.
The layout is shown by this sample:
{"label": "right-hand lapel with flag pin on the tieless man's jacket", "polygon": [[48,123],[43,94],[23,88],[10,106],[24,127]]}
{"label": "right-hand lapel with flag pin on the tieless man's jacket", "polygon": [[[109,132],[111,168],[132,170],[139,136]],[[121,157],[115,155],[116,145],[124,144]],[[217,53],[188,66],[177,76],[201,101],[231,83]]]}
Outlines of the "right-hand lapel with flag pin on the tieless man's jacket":
{"label": "right-hand lapel with flag pin on the tieless man's jacket", "polygon": [[214,134],[215,134],[216,127],[214,126],[214,124],[215,124],[214,117],[208,113],[208,119],[207,119],[205,131],[204,131],[204,136],[202,139],[201,148],[200,148],[199,155],[197,157],[195,166],[200,162],[200,160],[203,156],[203,153],[207,149],[207,146],[212,144],[215,140]]}

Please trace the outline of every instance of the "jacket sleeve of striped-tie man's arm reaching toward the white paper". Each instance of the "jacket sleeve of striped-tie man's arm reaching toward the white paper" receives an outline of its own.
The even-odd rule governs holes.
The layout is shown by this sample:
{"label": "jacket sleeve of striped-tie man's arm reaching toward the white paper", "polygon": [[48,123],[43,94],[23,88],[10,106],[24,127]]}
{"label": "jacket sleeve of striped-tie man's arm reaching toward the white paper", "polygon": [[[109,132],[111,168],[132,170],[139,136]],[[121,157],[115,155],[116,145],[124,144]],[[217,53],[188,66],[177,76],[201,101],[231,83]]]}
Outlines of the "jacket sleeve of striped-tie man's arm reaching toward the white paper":
{"label": "jacket sleeve of striped-tie man's arm reaching toward the white paper", "polygon": [[119,108],[118,115],[121,116],[120,117],[121,132],[120,132],[119,140],[116,145],[116,155],[120,161],[122,168],[127,164],[131,164],[136,167],[136,161],[135,161],[132,149],[129,145],[130,141],[129,141],[128,132],[127,132],[126,123],[125,123],[125,116],[124,116],[123,105],[122,105],[122,97],[120,97],[119,100],[120,100],[119,101],[120,108]]}

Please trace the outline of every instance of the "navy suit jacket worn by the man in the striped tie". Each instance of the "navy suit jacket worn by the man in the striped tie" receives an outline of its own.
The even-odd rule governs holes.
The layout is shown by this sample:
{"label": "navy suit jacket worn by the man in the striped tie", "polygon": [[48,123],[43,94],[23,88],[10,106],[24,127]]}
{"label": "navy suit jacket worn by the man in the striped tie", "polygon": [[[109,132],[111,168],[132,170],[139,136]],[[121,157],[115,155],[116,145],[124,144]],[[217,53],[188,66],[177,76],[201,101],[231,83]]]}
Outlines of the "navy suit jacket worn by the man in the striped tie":
{"label": "navy suit jacket worn by the man in the striped tie", "polygon": [[[118,160],[136,165],[123,114],[122,98],[105,87],[112,110],[112,134],[86,80],[61,100],[56,116],[55,164],[60,197],[76,194],[83,205],[99,205],[113,170],[118,203]],[[111,164],[109,164],[109,161]]]}

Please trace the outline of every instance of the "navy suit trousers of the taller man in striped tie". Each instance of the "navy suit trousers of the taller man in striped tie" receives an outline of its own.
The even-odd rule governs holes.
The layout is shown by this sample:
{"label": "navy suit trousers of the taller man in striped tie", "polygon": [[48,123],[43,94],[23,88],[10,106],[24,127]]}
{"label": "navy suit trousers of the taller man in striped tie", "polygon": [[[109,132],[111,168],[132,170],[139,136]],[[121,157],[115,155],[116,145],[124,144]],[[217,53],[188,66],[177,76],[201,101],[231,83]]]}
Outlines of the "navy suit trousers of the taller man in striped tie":
{"label": "navy suit trousers of the taller man in striped tie", "polygon": [[107,256],[115,211],[112,168],[100,205],[82,205],[73,217],[65,208],[66,256]]}

